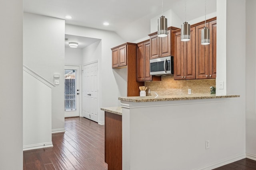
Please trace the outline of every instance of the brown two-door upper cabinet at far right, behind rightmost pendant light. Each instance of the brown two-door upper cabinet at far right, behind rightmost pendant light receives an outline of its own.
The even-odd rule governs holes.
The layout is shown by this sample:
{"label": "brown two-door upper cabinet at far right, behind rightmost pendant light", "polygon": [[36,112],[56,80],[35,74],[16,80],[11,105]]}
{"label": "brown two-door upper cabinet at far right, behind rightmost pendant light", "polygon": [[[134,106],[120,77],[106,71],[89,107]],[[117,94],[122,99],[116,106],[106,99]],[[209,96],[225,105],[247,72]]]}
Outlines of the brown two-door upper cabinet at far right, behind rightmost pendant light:
{"label": "brown two-door upper cabinet at far right, behind rightmost pendant light", "polygon": [[208,21],[210,44],[201,45],[201,30],[205,24],[196,26],[196,79],[216,78],[216,28],[217,21]]}

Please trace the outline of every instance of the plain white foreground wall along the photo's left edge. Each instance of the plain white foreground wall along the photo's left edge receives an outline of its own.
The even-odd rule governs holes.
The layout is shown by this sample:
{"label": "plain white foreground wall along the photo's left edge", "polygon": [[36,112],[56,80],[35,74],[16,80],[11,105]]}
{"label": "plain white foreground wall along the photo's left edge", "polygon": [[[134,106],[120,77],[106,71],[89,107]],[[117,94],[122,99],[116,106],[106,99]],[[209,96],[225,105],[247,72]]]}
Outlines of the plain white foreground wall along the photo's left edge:
{"label": "plain white foreground wall along the photo's left edge", "polygon": [[0,2],[0,166],[22,170],[22,0]]}

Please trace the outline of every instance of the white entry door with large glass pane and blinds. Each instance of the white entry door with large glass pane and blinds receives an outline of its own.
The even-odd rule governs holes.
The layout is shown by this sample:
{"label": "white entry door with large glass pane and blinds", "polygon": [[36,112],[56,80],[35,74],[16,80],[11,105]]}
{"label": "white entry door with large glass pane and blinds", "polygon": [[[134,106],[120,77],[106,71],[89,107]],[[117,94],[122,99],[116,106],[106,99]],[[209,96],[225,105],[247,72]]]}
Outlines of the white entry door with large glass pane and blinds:
{"label": "white entry door with large glass pane and blinds", "polygon": [[65,117],[79,116],[79,66],[65,66]]}

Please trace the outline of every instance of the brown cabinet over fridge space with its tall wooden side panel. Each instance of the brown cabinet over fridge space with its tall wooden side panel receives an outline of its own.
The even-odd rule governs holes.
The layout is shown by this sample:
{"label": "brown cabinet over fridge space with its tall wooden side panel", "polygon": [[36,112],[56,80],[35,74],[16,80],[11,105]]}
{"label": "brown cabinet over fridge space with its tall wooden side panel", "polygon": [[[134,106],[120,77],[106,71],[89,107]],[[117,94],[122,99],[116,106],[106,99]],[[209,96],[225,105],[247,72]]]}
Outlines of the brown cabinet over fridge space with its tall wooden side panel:
{"label": "brown cabinet over fridge space with its tall wooden side panel", "polygon": [[127,96],[140,96],[139,86],[144,82],[136,81],[136,49],[135,43],[124,43],[112,48],[112,68],[127,68]]}

